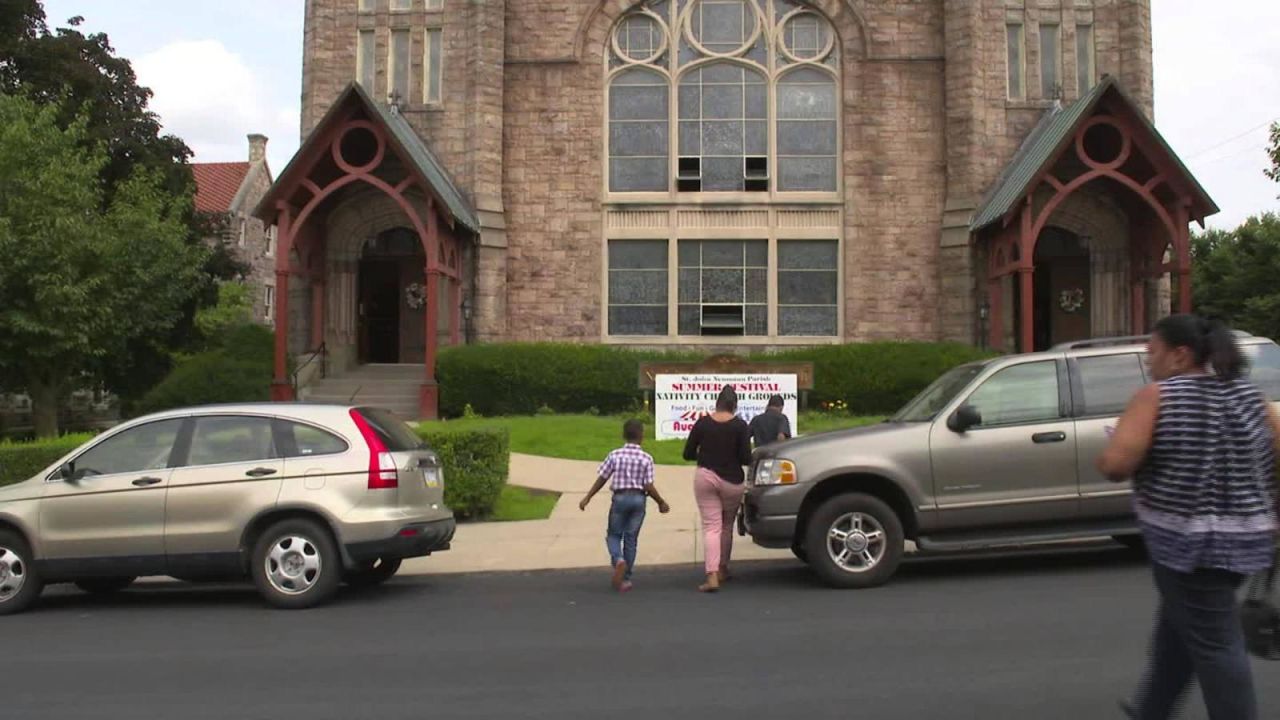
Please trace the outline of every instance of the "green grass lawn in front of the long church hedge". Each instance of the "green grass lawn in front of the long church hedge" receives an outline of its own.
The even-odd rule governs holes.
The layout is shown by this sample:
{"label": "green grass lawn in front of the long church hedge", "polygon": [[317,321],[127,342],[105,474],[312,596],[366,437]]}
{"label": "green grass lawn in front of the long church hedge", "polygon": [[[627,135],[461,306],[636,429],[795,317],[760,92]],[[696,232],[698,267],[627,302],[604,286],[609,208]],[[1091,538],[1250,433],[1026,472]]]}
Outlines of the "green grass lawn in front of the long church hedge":
{"label": "green grass lawn in front of the long church hedge", "polygon": [[[596,415],[536,415],[518,418],[465,418],[444,420],[449,428],[507,428],[511,433],[511,451],[563,460],[604,460],[611,450],[622,442],[622,423],[626,418]],[[881,418],[854,418],[819,413],[800,414],[800,432],[813,434],[841,428],[856,428],[881,421]],[[645,450],[659,465],[686,465],[680,456],[684,441],[654,439],[653,419],[645,423],[649,437]]]}

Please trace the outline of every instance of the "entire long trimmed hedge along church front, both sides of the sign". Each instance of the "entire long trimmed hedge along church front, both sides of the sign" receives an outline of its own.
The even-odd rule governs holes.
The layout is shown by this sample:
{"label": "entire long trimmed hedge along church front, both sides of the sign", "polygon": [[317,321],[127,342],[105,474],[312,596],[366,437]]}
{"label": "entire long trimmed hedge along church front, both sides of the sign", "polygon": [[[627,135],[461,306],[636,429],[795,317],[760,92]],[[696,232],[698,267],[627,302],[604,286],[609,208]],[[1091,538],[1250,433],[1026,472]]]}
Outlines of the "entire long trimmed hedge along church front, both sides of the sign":
{"label": "entire long trimmed hedge along church front, both sides of the sign", "polygon": [[[940,374],[986,354],[961,343],[874,342],[755,354],[755,360],[814,364],[812,406],[844,401],[850,413],[897,410]],[[636,387],[645,361],[700,360],[692,352],[637,351],[605,345],[504,343],[451,347],[440,352],[440,413],[461,416],[467,405],[481,415],[625,413],[641,401]]]}

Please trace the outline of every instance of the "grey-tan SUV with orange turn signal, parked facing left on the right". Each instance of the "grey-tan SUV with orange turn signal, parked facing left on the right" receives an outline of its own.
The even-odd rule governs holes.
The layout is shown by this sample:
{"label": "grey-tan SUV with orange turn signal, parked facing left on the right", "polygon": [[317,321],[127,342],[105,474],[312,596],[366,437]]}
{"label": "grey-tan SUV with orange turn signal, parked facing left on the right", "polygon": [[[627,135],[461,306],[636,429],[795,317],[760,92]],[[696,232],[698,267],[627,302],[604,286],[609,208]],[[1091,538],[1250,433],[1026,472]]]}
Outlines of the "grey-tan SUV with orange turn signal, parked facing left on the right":
{"label": "grey-tan SUV with orange turn signal, parked facing left on the right", "polygon": [[[1280,401],[1280,347],[1236,333]],[[952,369],[882,424],[754,455],[745,521],[828,584],[881,584],[922,551],[1115,537],[1137,543],[1132,487],[1094,468],[1133,393],[1146,337],[1074,342]]]}

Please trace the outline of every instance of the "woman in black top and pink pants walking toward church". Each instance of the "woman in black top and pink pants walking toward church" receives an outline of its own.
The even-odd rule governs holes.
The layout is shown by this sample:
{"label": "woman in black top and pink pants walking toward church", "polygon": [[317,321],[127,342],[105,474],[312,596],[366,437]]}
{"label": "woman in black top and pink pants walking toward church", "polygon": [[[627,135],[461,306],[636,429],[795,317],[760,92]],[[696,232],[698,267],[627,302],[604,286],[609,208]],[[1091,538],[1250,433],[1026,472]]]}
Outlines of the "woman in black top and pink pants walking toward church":
{"label": "woman in black top and pink pants walking toward church", "polygon": [[742,503],[742,466],[751,462],[751,430],[737,416],[737,393],[724,386],[716,400],[716,413],[694,424],[685,443],[685,460],[696,460],[694,497],[703,519],[707,582],[701,592],[716,592],[728,578],[733,550],[733,520]]}

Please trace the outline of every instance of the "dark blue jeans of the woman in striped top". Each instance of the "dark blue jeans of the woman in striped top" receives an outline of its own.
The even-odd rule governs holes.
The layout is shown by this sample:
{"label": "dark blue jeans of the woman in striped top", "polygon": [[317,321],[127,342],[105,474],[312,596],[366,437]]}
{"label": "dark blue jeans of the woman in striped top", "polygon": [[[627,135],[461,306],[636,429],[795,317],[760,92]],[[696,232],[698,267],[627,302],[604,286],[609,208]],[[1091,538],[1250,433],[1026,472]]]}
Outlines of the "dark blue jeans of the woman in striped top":
{"label": "dark blue jeans of the woman in striped top", "polygon": [[1257,700],[1236,597],[1244,577],[1226,570],[1179,573],[1160,564],[1153,565],[1153,573],[1160,610],[1137,716],[1170,717],[1196,679],[1211,720],[1256,720]]}

